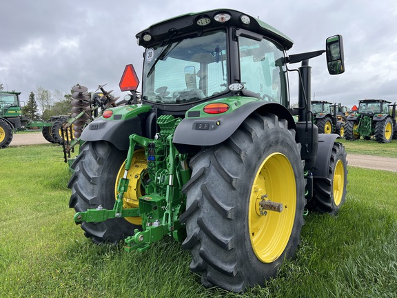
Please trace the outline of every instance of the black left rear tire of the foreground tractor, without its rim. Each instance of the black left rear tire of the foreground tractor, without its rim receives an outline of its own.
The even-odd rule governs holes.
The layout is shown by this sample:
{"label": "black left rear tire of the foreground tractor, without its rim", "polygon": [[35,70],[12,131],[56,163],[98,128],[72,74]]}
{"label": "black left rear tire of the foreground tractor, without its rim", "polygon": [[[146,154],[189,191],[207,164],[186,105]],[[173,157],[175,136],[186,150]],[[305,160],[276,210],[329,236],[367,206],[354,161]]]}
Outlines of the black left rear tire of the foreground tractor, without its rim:
{"label": "black left rear tire of the foreground tractor, without its rim", "polygon": [[[73,175],[68,183],[72,189],[69,207],[76,212],[101,205],[105,209],[114,207],[116,177],[120,172],[127,152],[120,151],[111,143],[96,141],[84,143],[81,153],[72,164]],[[99,223],[83,221],[81,228],[85,237],[96,244],[117,244],[128,236],[134,235],[134,229],[141,226],[131,224],[128,219],[108,219]]]}

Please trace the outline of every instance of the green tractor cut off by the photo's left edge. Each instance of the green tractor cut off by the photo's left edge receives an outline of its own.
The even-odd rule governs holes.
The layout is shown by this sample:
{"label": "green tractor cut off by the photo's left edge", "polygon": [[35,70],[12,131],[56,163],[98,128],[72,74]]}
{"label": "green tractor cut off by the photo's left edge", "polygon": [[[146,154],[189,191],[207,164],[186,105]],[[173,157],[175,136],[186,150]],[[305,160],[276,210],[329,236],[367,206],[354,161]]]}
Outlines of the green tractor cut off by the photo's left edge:
{"label": "green tractor cut off by the photo's left edge", "polygon": [[48,121],[32,121],[22,115],[19,95],[21,92],[0,91],[0,149],[10,145],[15,132],[29,128],[40,128],[47,141],[60,143],[61,131],[54,130],[54,124],[63,123],[67,116],[52,116]]}

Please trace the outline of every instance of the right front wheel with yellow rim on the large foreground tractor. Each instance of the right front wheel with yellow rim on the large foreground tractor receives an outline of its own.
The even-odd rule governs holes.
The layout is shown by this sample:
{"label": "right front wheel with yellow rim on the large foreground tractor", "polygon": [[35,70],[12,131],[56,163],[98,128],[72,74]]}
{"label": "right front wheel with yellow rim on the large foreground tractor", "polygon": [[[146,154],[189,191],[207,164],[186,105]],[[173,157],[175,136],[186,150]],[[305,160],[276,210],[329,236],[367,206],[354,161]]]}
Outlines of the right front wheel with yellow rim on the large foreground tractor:
{"label": "right front wheel with yellow rim on the large foreground tractor", "polygon": [[310,210],[336,215],[346,200],[347,161],[345,147],[334,143],[329,160],[327,178],[314,178],[313,198],[307,204]]}

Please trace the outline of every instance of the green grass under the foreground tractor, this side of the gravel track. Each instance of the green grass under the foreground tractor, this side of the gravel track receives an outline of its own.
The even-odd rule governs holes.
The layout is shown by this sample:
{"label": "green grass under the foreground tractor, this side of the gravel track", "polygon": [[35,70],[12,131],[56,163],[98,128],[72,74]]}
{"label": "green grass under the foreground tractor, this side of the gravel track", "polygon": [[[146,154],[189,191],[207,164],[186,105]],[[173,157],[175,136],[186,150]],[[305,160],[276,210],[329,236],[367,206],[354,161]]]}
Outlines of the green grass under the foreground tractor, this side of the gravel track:
{"label": "green grass under the foreground tractor, this side of the gravel track", "polygon": [[6,148],[0,167],[0,297],[397,297],[396,172],[349,167],[340,213],[309,214],[296,259],[237,295],[201,286],[171,239],[143,253],[86,239],[61,147]]}

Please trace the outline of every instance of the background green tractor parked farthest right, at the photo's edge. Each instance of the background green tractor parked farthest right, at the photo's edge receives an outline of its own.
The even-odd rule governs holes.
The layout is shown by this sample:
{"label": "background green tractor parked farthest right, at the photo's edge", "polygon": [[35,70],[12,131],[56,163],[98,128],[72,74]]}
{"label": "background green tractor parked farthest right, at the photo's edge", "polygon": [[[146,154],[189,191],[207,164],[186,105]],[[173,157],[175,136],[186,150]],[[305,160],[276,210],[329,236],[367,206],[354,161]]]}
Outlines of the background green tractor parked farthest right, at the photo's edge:
{"label": "background green tractor parked farthest right, at the photo's edge", "polygon": [[363,137],[374,137],[379,143],[397,139],[396,103],[384,99],[363,99],[358,101],[358,110],[347,116],[345,139],[354,141]]}

